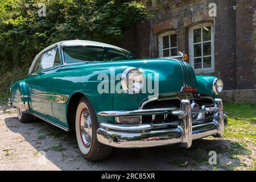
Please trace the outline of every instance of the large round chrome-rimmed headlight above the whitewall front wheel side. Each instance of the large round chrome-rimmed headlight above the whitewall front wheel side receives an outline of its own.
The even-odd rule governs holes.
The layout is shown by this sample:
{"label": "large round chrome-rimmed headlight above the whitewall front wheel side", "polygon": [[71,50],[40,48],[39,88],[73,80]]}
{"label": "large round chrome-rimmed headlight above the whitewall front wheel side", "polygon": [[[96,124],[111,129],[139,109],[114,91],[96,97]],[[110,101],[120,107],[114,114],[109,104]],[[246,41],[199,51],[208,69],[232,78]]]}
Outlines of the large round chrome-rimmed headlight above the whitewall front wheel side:
{"label": "large round chrome-rimmed headlight above the whitewall front wheel side", "polygon": [[127,68],[122,73],[121,84],[126,93],[139,93],[144,87],[144,76],[137,68]]}

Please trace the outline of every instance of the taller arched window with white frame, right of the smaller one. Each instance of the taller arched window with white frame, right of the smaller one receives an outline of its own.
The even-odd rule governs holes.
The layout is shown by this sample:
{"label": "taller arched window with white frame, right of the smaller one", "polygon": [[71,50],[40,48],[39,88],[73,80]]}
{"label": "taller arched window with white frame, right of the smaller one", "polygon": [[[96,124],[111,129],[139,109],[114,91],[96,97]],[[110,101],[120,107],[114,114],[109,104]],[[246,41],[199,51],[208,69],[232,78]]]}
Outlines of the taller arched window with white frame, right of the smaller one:
{"label": "taller arched window with white frame, right of the smaller one", "polygon": [[189,29],[189,61],[196,73],[214,72],[213,23],[199,24]]}

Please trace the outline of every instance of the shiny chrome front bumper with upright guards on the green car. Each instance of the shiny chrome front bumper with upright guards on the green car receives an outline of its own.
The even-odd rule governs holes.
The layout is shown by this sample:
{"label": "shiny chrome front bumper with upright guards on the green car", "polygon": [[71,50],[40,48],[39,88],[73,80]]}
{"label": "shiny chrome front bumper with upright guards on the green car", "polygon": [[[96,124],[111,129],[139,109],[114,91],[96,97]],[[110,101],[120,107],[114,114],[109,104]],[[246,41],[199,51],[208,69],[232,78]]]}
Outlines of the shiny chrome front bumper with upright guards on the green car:
{"label": "shiny chrome front bumper with upright guards on the green car", "polygon": [[[224,136],[224,111],[221,99],[216,99],[216,107],[192,111],[191,103],[188,100],[182,100],[180,109],[166,108],[157,110],[136,110],[127,112],[104,112],[100,115],[143,115],[171,113],[179,116],[179,121],[160,124],[142,124],[142,125],[112,125],[101,123],[97,130],[97,139],[99,142],[118,148],[141,148],[164,146],[167,144],[180,143],[182,147],[190,148],[192,140],[217,135]],[[192,125],[192,114],[215,112],[212,121]],[[176,126],[176,127],[173,127]]]}

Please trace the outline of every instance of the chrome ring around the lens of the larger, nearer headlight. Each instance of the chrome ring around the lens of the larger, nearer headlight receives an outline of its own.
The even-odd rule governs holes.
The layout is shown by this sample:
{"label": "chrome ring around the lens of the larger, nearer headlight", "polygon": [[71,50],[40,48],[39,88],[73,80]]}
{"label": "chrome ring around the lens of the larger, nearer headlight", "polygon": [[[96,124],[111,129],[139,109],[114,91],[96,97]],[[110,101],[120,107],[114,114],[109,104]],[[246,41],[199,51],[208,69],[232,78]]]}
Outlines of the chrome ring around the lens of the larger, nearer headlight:
{"label": "chrome ring around the lens of the larger, nearer headlight", "polygon": [[142,78],[141,88],[139,88],[138,90],[134,90],[132,88],[129,88],[129,74],[131,72],[137,72],[138,74],[142,75],[142,77],[143,77],[143,73],[141,71],[139,71],[138,68],[134,68],[134,67],[126,68],[125,71],[123,71],[122,76],[121,76],[122,88],[128,94],[139,93],[139,92],[141,92],[141,90],[144,87],[144,77]]}

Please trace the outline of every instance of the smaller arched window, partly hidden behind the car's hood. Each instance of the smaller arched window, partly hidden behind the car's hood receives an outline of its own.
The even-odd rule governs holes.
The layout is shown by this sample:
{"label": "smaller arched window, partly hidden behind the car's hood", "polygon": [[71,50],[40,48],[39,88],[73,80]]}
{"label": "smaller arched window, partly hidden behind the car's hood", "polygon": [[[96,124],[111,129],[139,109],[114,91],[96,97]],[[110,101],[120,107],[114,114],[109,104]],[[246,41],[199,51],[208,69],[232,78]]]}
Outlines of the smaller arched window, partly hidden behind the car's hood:
{"label": "smaller arched window, partly hidden behind the car's hood", "polygon": [[168,31],[158,36],[159,57],[170,57],[177,55],[177,32]]}

